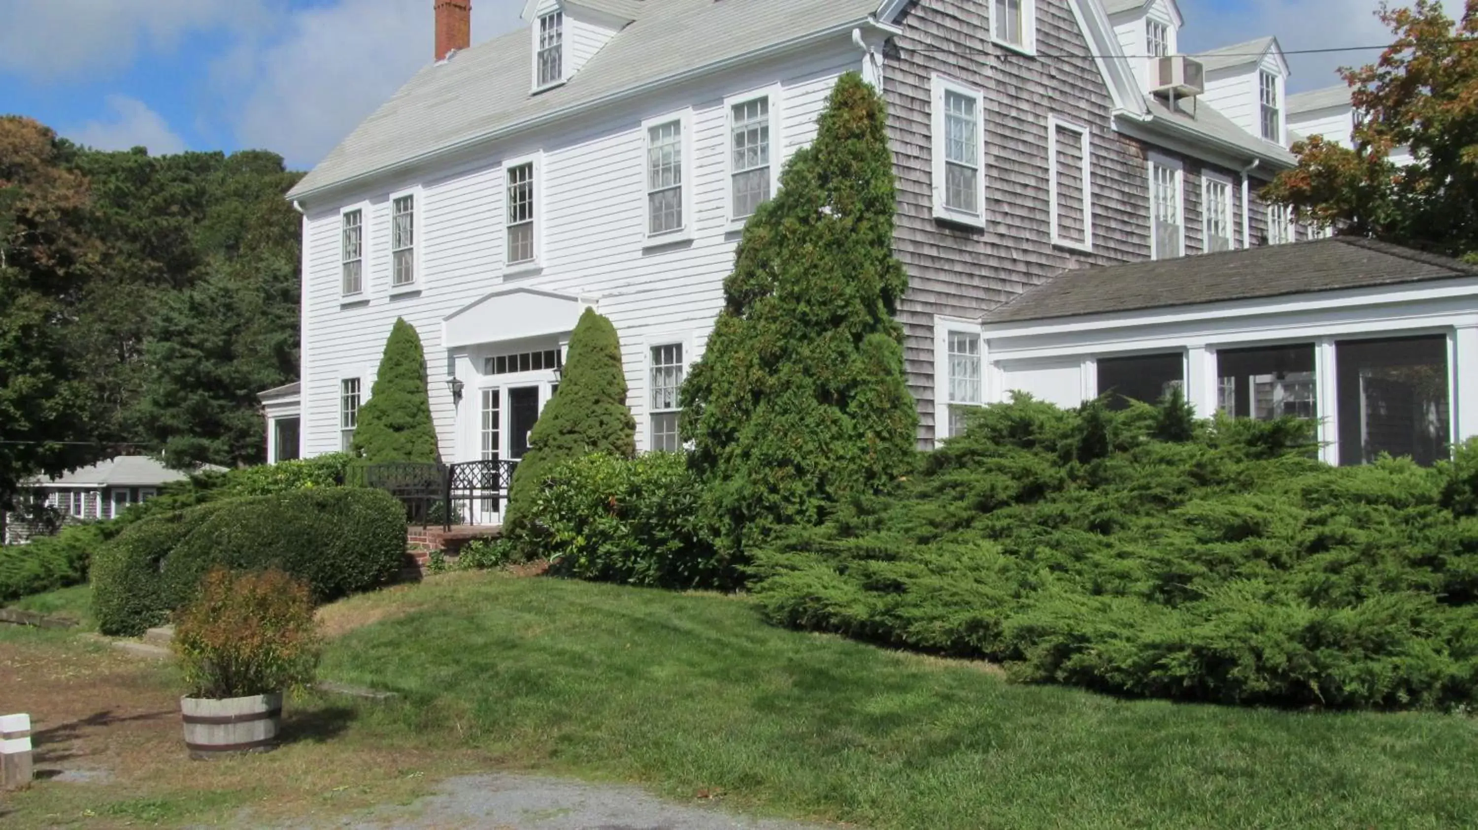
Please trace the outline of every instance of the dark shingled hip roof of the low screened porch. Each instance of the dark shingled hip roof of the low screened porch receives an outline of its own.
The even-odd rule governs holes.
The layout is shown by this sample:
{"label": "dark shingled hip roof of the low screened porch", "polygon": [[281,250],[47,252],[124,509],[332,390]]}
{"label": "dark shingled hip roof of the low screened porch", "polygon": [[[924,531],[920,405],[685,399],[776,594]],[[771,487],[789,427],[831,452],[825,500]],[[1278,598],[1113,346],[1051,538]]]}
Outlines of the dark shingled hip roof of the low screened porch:
{"label": "dark shingled hip roof of the low screened porch", "polygon": [[1043,320],[1462,276],[1478,276],[1478,267],[1386,242],[1336,236],[1069,270],[983,319],[987,325]]}

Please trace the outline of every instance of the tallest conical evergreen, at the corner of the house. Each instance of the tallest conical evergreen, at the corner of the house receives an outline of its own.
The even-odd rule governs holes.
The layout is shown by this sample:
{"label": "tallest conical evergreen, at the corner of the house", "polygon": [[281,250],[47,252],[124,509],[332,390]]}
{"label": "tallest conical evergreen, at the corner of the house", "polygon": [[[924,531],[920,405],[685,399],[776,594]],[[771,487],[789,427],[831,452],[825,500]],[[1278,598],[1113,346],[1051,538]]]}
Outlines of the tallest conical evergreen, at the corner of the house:
{"label": "tallest conical evergreen, at the corner of the house", "polygon": [[860,75],[838,81],[816,142],[749,219],[724,310],[683,387],[683,434],[727,555],[915,462],[884,118]]}

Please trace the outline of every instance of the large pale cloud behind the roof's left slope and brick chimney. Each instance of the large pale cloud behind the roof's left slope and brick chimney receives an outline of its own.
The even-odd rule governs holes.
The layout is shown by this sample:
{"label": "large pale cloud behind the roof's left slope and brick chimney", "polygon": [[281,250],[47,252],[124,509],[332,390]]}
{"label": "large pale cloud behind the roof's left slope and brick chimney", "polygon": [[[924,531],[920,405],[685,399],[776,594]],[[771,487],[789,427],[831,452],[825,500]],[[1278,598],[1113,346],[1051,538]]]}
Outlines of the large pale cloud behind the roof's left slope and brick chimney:
{"label": "large pale cloud behind the roof's left slope and brick chimney", "polygon": [[[522,9],[522,0],[476,0],[473,40],[519,25]],[[432,24],[429,0],[338,0],[293,10],[270,37],[244,40],[213,65],[222,117],[242,146],[310,167],[432,62]]]}

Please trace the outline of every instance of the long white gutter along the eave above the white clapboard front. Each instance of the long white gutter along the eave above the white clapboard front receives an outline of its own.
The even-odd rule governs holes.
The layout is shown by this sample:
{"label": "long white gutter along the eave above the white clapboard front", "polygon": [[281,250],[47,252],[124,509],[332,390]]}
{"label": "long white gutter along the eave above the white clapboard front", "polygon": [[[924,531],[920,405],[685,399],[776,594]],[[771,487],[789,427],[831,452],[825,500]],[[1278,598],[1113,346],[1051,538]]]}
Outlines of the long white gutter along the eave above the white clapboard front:
{"label": "long white gutter along the eave above the white clapboard front", "polygon": [[492,130],[491,133],[483,133],[480,136],[471,136],[471,137],[467,137],[467,139],[461,139],[461,140],[452,142],[449,145],[445,145],[445,146],[440,146],[440,148],[436,148],[436,149],[430,149],[430,151],[426,151],[426,152],[418,154],[418,155],[412,155],[409,158],[402,158],[401,161],[395,161],[392,164],[383,164],[380,167],[375,167],[374,170],[368,170],[365,173],[349,176],[347,179],[338,179],[336,182],[331,182],[328,185],[322,185],[322,186],[313,188],[310,191],[303,191],[303,192],[299,192],[299,193],[293,193],[293,199],[294,201],[309,199],[309,198],[316,196],[319,193],[325,193],[325,192],[330,192],[330,191],[337,191],[337,189],[349,188],[352,185],[358,185],[358,183],[362,183],[362,182],[378,179],[378,177],[386,176],[386,174],[389,174],[392,171],[396,171],[396,170],[403,170],[406,167],[415,167],[418,164],[435,161],[435,160],[446,157],[446,155],[455,155],[458,152],[463,152],[463,151],[467,151],[467,149],[471,149],[471,148],[476,148],[476,146],[480,146],[480,145],[485,145],[485,143],[491,143],[491,142],[497,142],[497,140],[501,140],[501,139],[507,139],[507,137],[514,136],[517,133],[523,133],[523,131],[528,131],[528,130],[534,130],[537,127],[544,127],[547,124],[553,124],[556,121],[562,121],[562,120],[569,118],[572,115],[581,115],[581,114],[588,112],[591,109],[600,109],[603,106],[609,106],[612,103],[619,103],[619,102],[627,100],[627,99],[640,97],[640,96],[643,96],[643,95],[646,95],[649,92],[653,92],[653,90],[658,90],[658,89],[662,89],[662,87],[667,87],[667,86],[671,86],[671,84],[681,84],[681,83],[698,80],[698,78],[702,78],[702,77],[706,77],[706,75],[724,72],[727,69],[732,69],[735,66],[740,66],[743,64],[749,64],[752,61],[761,61],[764,58],[773,58],[776,55],[783,55],[786,52],[794,52],[794,50],[806,49],[807,46],[811,46],[811,44],[823,41],[823,40],[834,38],[837,35],[847,35],[851,31],[859,30],[859,28],[876,30],[876,31],[885,32],[890,37],[903,32],[903,30],[900,30],[899,27],[893,27],[893,25],[888,25],[888,24],[878,22],[872,15],[868,15],[866,18],[862,18],[862,19],[857,19],[857,21],[851,21],[851,22],[847,22],[847,24],[840,24],[840,25],[835,25],[835,27],[831,27],[831,28],[825,28],[825,30],[820,30],[820,31],[814,31],[814,32],[810,32],[810,34],[803,34],[800,37],[792,37],[791,40],[785,40],[785,41],[780,41],[780,43],[773,43],[770,46],[766,46],[764,49],[757,49],[754,52],[745,52],[743,55],[735,55],[733,58],[724,58],[723,61],[715,61],[714,64],[706,64],[704,66],[696,66],[696,68],[692,68],[692,69],[683,69],[681,72],[674,72],[671,75],[664,75],[661,78],[653,78],[650,81],[644,81],[644,83],[637,84],[634,87],[627,87],[624,90],[613,92],[613,93],[606,95],[603,97],[597,97],[597,99],[593,99],[593,100],[582,100],[579,103],[572,103],[569,106],[565,106],[565,108],[560,108],[560,109],[554,109],[551,112],[542,112],[539,115],[534,115],[531,118],[525,118],[523,121],[514,121],[513,124],[507,124],[507,126],[504,126],[504,127],[501,127],[498,130]]}

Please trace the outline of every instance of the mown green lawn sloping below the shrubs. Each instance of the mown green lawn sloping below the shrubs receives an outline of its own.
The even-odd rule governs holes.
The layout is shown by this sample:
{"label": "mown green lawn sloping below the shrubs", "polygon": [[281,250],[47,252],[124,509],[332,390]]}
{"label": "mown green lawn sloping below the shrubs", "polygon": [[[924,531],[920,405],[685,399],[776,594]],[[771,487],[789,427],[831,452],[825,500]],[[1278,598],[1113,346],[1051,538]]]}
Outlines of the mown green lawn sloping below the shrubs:
{"label": "mown green lawn sloping below the shrubs", "polygon": [[[458,575],[336,641],[372,728],[873,829],[1463,827],[1478,722],[1120,700],[760,622],[745,600]],[[367,724],[370,725],[370,724]]]}

